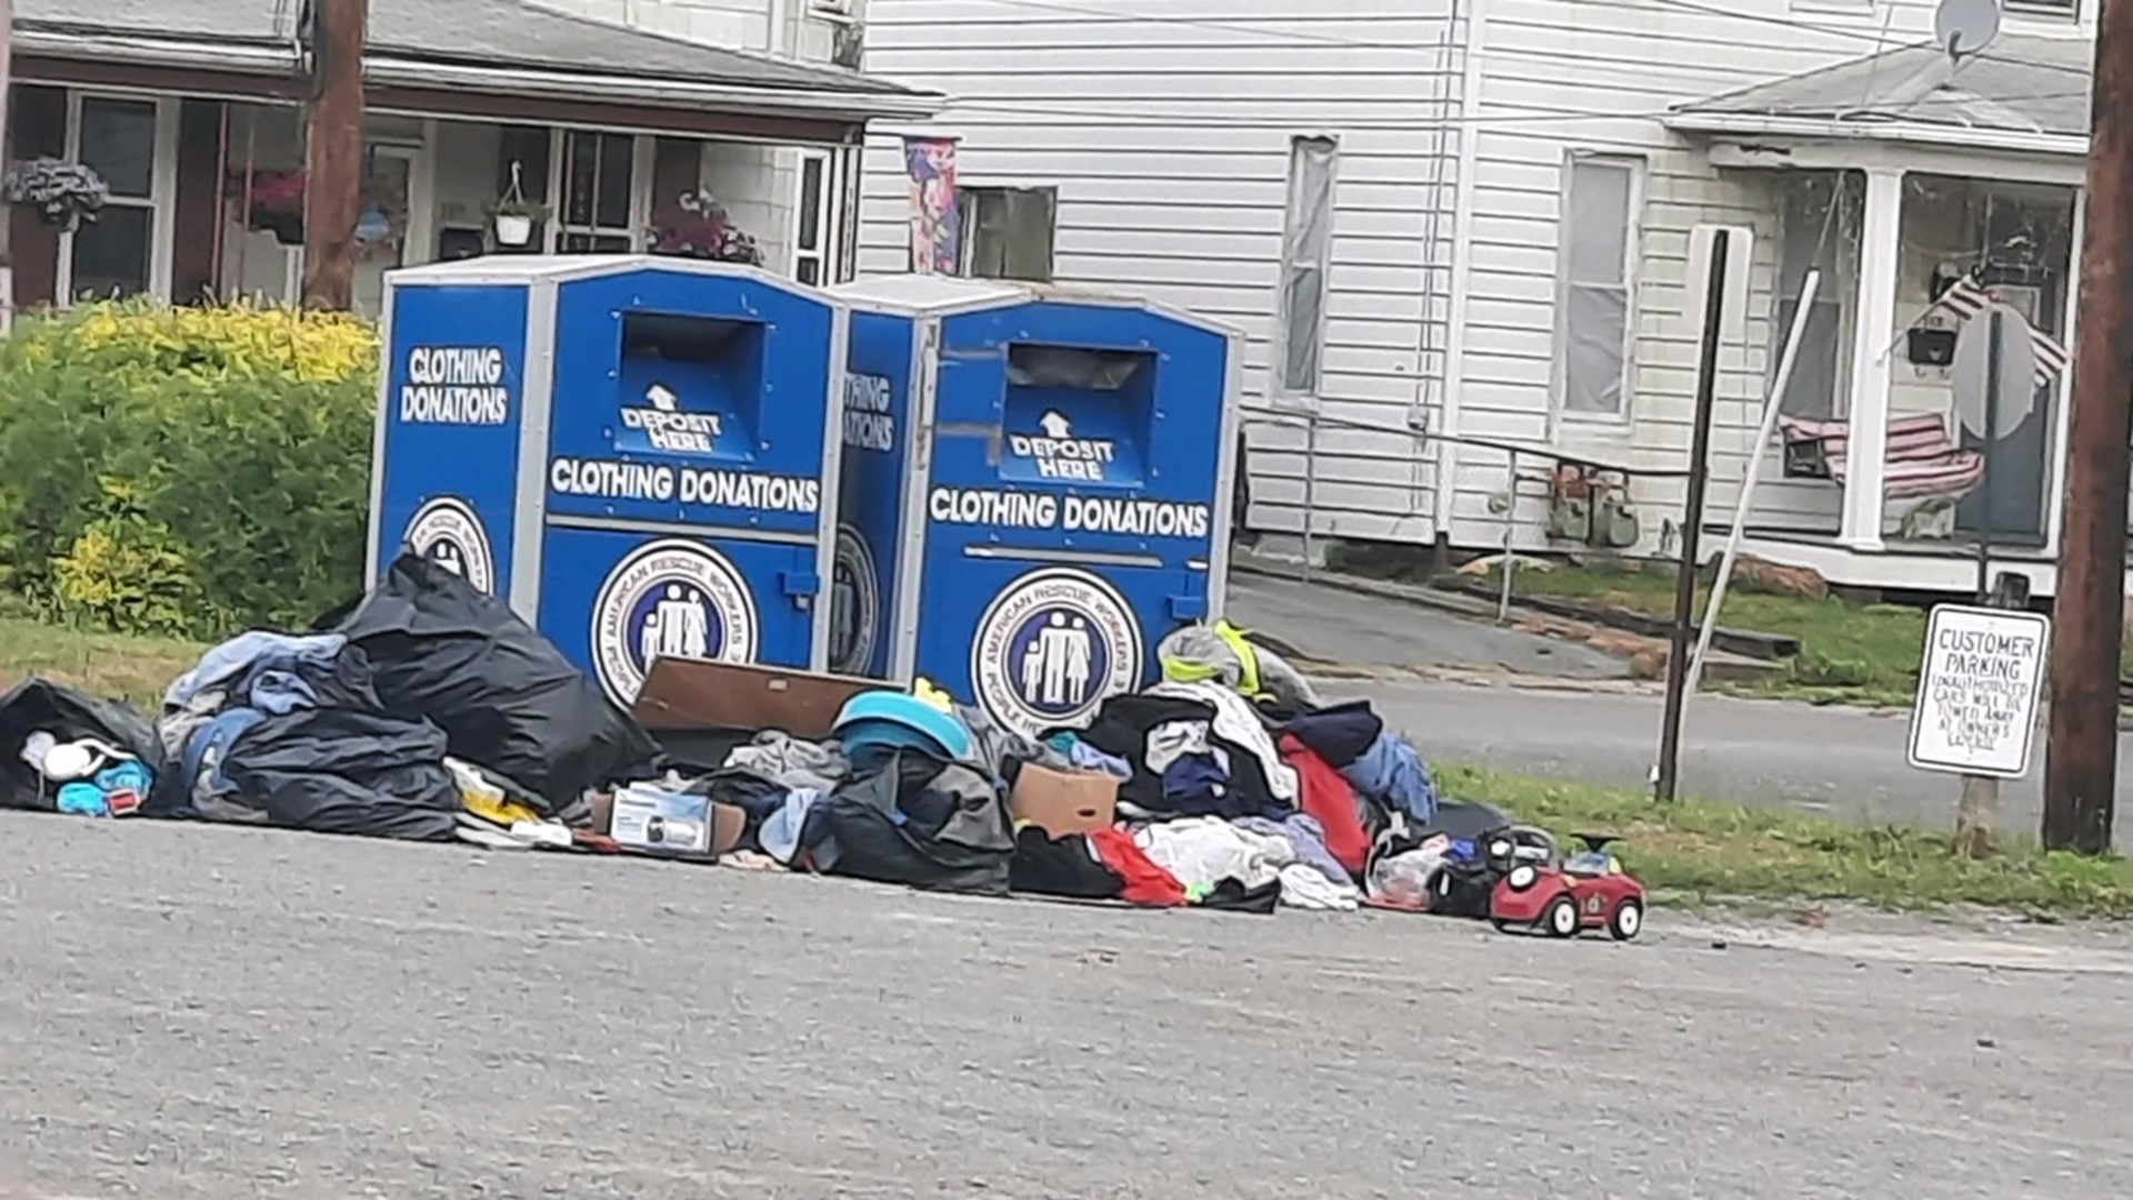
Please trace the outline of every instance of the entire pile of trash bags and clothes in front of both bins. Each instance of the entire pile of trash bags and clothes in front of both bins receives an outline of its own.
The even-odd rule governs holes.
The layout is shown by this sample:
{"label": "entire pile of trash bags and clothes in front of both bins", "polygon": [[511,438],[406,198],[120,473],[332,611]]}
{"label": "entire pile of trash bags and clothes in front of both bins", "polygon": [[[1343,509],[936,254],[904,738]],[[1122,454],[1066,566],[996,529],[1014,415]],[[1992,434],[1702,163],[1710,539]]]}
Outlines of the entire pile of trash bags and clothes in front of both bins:
{"label": "entire pile of trash bags and clothes in front of both bins", "polygon": [[[734,865],[1244,912],[1429,907],[1508,824],[1442,803],[1367,702],[1320,700],[1226,623],[1158,658],[1160,683],[1039,739],[919,681],[853,696],[828,739],[661,743],[503,602],[403,555],[311,630],[209,649],[154,720],[41,679],[0,696],[0,807],[612,852],[595,801],[651,788],[738,814]],[[1030,767],[1109,775],[1116,811],[1017,820]]]}

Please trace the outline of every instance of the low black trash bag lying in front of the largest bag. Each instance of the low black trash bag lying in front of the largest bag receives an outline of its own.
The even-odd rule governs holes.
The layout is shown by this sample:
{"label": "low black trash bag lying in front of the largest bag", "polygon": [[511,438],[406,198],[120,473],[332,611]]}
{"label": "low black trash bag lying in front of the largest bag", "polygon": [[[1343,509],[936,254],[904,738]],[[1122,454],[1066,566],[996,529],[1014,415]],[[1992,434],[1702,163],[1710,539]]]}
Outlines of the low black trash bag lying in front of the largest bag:
{"label": "low black trash bag lying in front of the largest bag", "polygon": [[354,709],[267,717],[230,743],[230,801],[267,824],[401,841],[452,841],[459,784],[437,726]]}

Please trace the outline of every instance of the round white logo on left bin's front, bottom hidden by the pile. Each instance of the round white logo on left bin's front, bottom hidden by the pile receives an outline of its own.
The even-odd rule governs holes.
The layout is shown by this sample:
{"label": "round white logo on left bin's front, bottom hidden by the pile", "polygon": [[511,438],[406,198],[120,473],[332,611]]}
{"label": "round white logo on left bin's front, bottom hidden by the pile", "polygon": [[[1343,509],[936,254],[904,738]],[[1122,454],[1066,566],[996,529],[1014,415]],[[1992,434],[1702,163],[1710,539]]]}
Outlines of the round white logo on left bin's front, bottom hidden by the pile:
{"label": "round white logo on left bin's front, bottom hidden by the pile", "polygon": [[593,600],[593,666],[629,707],[659,658],[753,662],[755,598],[734,564],[702,542],[640,547],[608,572]]}

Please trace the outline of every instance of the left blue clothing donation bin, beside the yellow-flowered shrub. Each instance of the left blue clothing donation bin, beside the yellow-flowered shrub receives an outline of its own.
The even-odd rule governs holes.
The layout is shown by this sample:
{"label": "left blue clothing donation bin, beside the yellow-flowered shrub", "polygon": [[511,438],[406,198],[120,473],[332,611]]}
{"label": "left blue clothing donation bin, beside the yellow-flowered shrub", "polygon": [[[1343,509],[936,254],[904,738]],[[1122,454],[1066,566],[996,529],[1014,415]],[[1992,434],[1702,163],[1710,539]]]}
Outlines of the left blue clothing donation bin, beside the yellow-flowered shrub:
{"label": "left blue clothing donation bin, beside the yellow-flowered shrub", "polygon": [[386,278],[371,579],[503,596],[629,705],[655,658],[821,670],[845,314],[751,267],[497,256]]}

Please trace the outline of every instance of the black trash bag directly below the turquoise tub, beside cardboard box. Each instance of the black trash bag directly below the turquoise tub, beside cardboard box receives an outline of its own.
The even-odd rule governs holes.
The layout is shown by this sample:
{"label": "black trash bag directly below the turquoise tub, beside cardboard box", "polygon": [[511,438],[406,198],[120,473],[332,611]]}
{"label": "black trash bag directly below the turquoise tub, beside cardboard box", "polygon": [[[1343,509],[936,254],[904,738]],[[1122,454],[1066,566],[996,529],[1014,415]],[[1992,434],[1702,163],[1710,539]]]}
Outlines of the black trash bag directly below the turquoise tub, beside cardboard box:
{"label": "black trash bag directly below the turquoise tub, beside cardboard box", "polygon": [[941,893],[1007,895],[1007,799],[975,767],[898,749],[830,792],[838,875]]}

